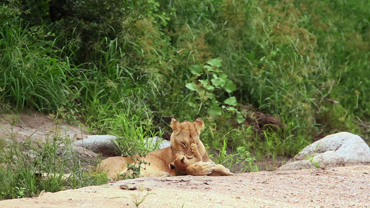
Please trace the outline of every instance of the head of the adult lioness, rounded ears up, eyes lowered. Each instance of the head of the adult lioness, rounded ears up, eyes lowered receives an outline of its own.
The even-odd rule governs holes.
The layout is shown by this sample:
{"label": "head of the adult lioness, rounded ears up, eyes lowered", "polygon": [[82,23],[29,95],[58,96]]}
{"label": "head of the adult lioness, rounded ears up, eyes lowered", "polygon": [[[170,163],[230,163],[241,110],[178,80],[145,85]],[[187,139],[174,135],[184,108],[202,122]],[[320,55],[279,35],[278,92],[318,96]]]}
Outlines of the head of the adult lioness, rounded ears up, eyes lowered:
{"label": "head of the adult lioness, rounded ears up, eyes lowered", "polygon": [[[176,154],[180,152],[188,159],[192,159],[194,153],[192,153],[191,145],[198,145],[201,143],[199,135],[204,128],[203,120],[198,118],[194,122],[185,121],[179,123],[176,119],[172,119],[171,128],[173,130],[171,135],[172,153]],[[203,146],[203,144],[201,146]]]}

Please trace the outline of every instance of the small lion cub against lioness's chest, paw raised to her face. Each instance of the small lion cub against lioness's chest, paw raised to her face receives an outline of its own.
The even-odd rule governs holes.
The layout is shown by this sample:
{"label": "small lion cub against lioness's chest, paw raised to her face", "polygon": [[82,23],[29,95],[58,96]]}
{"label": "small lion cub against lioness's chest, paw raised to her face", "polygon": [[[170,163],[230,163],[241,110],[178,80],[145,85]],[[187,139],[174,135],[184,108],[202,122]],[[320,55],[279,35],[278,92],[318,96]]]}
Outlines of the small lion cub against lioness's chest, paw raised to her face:
{"label": "small lion cub against lioness's chest, paw raised to her face", "polygon": [[[190,150],[192,151],[192,153],[194,153],[193,158],[187,159],[187,157],[183,153],[178,152],[174,155],[174,162],[171,162],[171,164],[169,164],[169,167],[171,169],[175,169],[177,175],[187,175],[185,170],[188,166],[192,166],[202,161],[201,153],[199,153],[199,149],[196,144],[191,144]],[[225,168],[223,165],[215,164],[215,170],[208,175],[222,176],[235,174],[231,173],[228,168]]]}

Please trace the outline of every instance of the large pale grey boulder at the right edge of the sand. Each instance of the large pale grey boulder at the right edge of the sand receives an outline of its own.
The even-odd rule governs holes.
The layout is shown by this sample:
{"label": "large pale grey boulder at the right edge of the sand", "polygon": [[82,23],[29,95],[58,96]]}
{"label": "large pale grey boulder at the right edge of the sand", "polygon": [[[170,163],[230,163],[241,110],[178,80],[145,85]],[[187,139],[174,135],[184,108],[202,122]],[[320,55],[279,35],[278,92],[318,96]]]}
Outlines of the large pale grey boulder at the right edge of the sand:
{"label": "large pale grey boulder at the right edge of the sand", "polygon": [[328,135],[303,148],[278,171],[330,168],[370,164],[370,148],[361,137],[349,132]]}

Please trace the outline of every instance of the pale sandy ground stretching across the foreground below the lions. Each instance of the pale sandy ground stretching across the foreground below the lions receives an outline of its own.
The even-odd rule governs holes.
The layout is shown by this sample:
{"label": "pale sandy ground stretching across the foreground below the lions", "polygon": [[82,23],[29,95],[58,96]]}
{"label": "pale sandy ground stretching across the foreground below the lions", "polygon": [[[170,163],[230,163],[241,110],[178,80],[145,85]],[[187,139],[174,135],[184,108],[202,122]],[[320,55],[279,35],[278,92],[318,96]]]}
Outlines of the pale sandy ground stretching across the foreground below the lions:
{"label": "pale sandy ground stretching across the foreground below the lions", "polygon": [[[147,177],[0,201],[0,207],[370,207],[370,166]],[[129,191],[121,185],[138,187]],[[140,189],[142,191],[140,191]]]}

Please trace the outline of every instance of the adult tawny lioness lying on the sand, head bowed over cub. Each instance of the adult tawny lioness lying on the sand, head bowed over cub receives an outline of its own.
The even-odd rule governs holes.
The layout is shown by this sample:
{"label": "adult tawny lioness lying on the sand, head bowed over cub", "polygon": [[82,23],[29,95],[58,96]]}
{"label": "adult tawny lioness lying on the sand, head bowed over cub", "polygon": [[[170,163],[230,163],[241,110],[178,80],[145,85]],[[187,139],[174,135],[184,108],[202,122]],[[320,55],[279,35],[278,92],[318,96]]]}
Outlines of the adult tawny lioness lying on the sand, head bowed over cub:
{"label": "adult tawny lioness lying on the sand, head bowed over cub", "polygon": [[[95,171],[104,171],[112,180],[117,180],[119,175],[125,175],[128,171],[128,165],[133,164],[134,160],[148,162],[149,164],[142,164],[140,174],[144,177],[155,176],[174,176],[176,168],[171,168],[171,162],[175,161],[175,155],[183,155],[187,159],[194,157],[194,150],[192,144],[197,145],[201,161],[183,163],[179,166],[179,175],[210,175],[215,170],[215,163],[210,160],[208,154],[205,152],[205,147],[199,135],[204,128],[204,122],[201,118],[192,122],[179,123],[176,119],[172,119],[171,128],[173,130],[171,135],[171,146],[160,150],[155,150],[145,157],[108,157],[103,159]],[[196,157],[195,157],[196,158]],[[218,165],[221,166],[221,165]],[[224,166],[222,166],[224,167]],[[226,168],[224,168],[226,170]]]}

